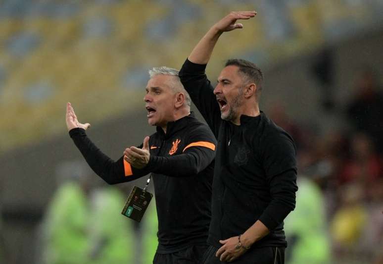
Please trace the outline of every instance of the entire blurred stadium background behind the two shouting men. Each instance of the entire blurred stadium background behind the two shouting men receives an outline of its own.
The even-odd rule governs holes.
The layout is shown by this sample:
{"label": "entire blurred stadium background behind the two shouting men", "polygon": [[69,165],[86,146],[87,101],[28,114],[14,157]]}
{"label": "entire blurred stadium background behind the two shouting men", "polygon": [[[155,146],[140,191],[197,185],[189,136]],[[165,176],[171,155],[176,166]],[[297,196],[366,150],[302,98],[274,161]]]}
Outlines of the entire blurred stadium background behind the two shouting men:
{"label": "entire blurred stadium background behind the two shouting men", "polygon": [[142,223],[120,214],[133,184],[88,168],[65,104],[119,158],[154,131],[148,68],[180,68],[214,22],[254,9],[207,74],[258,64],[261,110],[296,142],[287,263],[383,263],[381,0],[0,0],[0,263],[151,263],[154,202]]}

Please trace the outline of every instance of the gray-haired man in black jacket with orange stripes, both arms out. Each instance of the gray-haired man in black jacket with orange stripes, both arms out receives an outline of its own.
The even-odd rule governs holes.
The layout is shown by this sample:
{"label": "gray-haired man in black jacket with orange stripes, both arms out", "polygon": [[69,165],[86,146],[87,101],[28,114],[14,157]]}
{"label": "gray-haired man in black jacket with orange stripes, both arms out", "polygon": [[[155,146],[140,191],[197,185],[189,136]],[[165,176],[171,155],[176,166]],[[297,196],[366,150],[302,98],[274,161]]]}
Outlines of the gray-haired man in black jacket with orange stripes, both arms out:
{"label": "gray-haired man in black jacket with orange stripes, both arms out", "polygon": [[[191,99],[178,71],[153,68],[144,96],[147,120],[157,131],[139,147],[126,148],[114,161],[86,135],[70,103],[69,135],[91,168],[108,184],[151,173],[158,216],[158,247],[153,263],[199,264],[207,248],[216,139],[190,112]],[[128,245],[127,245],[128,246]]]}

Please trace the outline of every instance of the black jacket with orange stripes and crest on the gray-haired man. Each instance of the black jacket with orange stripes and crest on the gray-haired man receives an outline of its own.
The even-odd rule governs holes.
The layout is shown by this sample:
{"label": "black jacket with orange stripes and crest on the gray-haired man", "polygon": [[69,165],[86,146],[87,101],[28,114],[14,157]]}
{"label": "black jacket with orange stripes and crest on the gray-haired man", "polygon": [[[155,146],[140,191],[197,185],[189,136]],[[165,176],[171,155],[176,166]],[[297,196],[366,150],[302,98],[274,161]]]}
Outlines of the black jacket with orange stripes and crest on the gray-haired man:
{"label": "black jacket with orange stripes and crest on the gray-haired man", "polygon": [[[149,139],[149,163],[137,169],[103,154],[84,129],[69,131],[90,167],[109,184],[128,182],[152,173],[158,215],[160,254],[206,244],[211,216],[216,139],[206,124],[191,113],[157,127]],[[140,148],[142,145],[140,146]]]}

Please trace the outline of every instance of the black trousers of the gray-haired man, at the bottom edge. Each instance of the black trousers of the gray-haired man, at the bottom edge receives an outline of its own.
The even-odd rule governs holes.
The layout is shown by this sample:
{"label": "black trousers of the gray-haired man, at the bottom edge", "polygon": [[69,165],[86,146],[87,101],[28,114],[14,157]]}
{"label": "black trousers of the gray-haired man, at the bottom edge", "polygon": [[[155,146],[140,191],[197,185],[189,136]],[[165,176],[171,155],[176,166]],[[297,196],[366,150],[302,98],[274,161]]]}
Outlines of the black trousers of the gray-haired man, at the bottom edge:
{"label": "black trousers of the gray-haired man, at the bottom edge", "polygon": [[154,255],[153,264],[201,264],[208,245],[194,245],[169,254]]}

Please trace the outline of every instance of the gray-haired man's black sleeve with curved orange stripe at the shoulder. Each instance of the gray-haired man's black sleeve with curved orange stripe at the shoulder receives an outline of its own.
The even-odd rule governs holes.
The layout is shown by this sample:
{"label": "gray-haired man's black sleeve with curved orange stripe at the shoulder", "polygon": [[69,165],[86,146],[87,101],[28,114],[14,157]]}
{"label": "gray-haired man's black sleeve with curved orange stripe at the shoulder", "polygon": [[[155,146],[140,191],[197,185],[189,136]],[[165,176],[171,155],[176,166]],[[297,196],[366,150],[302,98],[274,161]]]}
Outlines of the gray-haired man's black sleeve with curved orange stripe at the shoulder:
{"label": "gray-haired man's black sleeve with curved orange stripe at the shoulder", "polygon": [[190,132],[182,154],[162,157],[150,155],[145,169],[172,177],[189,177],[204,170],[215,157],[217,141],[207,126]]}

